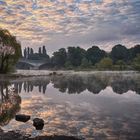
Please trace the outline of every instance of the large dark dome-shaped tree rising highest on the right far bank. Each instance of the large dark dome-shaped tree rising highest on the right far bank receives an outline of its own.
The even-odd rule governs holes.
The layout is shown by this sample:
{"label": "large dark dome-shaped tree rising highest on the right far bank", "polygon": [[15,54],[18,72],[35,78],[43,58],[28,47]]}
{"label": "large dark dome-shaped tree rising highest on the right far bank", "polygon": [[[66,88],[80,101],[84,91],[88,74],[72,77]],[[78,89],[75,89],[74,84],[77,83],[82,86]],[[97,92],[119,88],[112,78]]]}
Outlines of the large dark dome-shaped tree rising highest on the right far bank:
{"label": "large dark dome-shaped tree rising highest on the right far bank", "polygon": [[129,52],[125,46],[118,44],[112,48],[110,55],[113,63],[116,63],[118,60],[123,60],[124,62],[127,62]]}

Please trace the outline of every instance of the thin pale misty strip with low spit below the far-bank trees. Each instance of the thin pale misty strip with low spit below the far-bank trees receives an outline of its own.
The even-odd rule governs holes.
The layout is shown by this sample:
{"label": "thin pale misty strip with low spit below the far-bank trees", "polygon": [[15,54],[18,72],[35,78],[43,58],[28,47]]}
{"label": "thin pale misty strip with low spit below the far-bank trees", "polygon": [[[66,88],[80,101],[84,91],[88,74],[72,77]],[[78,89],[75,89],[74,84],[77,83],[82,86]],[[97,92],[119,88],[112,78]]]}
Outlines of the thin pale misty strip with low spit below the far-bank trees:
{"label": "thin pale misty strip with low spit below the far-bank trees", "polygon": [[138,71],[74,71],[74,70],[17,70],[14,73],[0,74],[0,81],[21,78],[38,78],[50,76],[67,76],[74,74],[139,74]]}

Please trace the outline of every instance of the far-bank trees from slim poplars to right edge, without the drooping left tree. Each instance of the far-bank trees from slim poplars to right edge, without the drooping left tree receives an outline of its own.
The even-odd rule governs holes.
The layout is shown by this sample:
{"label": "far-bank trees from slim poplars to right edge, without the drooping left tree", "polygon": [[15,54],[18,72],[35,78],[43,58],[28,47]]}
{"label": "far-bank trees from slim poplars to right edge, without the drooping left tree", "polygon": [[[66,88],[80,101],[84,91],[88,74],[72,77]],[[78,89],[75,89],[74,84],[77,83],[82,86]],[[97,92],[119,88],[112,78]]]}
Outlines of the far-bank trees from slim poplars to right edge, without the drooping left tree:
{"label": "far-bank trees from slim poplars to right edge, without the drooping left tree", "polygon": [[[80,47],[61,48],[50,57],[45,46],[34,53],[32,48],[24,49],[24,59],[42,60],[46,63],[39,69],[68,69],[68,70],[140,70],[140,45],[127,49],[115,45],[111,52],[92,46],[85,50]],[[21,66],[22,67],[22,66]],[[28,69],[26,66],[25,69]]]}

